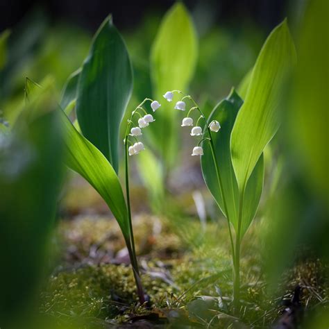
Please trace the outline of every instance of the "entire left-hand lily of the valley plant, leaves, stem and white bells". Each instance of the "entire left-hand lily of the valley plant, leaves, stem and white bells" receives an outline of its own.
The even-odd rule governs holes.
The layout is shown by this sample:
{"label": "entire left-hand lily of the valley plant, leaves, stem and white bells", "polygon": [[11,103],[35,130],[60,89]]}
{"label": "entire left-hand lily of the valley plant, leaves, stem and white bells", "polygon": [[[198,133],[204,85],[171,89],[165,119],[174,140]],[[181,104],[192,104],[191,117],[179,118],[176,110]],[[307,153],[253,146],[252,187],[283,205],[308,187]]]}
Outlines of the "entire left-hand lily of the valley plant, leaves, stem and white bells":
{"label": "entire left-hand lily of the valley plant, leaves, stem and white bells", "polygon": [[[117,175],[119,168],[119,127],[133,87],[133,74],[124,40],[108,17],[96,33],[90,53],[81,69],[69,78],[62,94],[60,111],[66,133],[69,168],[81,174],[99,194],[119,223],[128,248],[140,303],[145,302],[130,211],[129,155],[144,150],[137,140],[142,130],[155,121],[146,112],[158,110],[160,103],[144,99],[130,115],[124,137],[126,159],[126,199]],[[67,117],[75,107],[76,123]]]}

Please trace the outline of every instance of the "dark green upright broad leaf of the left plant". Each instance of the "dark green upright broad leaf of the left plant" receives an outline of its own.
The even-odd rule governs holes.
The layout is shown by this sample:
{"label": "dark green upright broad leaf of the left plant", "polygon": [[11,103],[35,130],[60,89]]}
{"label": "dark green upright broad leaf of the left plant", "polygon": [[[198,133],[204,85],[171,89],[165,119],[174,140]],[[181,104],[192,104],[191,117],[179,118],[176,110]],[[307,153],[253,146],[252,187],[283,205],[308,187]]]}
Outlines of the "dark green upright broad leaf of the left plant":
{"label": "dark green upright broad leaf of the left plant", "polygon": [[119,126],[133,87],[126,45],[108,17],[92,42],[78,80],[76,115],[83,135],[118,171]]}

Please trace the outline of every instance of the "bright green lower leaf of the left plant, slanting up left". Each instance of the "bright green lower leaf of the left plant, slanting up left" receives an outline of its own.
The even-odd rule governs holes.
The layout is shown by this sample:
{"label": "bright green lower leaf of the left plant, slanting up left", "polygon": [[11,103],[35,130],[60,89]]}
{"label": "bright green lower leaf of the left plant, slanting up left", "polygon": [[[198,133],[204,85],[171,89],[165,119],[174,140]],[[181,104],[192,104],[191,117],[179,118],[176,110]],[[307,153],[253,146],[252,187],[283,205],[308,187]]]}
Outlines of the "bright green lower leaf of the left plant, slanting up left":
{"label": "bright green lower leaf of the left plant, slanting up left", "polygon": [[81,174],[99,192],[117,219],[124,237],[128,238],[130,230],[126,201],[115,170],[101,151],[78,133],[65,113],[59,112],[66,136],[67,166]]}

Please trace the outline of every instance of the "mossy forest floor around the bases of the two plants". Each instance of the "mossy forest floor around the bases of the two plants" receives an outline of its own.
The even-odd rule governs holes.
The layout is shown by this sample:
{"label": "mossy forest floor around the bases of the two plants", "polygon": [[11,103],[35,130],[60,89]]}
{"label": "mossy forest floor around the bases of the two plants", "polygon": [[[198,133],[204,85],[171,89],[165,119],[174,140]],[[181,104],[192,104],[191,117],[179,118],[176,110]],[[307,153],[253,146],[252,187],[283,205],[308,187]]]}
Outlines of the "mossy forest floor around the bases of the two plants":
{"label": "mossy forest floor around the bases of the two plants", "polygon": [[237,328],[245,328],[237,323],[268,328],[284,309],[282,299],[291,298],[297,285],[304,287],[301,301],[306,310],[321,305],[326,311],[328,278],[320,260],[296,262],[283,273],[275,293],[269,292],[260,255],[262,222],[255,221],[244,239],[242,306],[239,319],[235,318],[226,222],[209,222],[203,230],[191,217],[182,233],[179,222],[143,212],[134,217],[133,225],[150,306],[140,307],[119,226],[103,212],[103,203],[93,192],[86,195],[90,208],[101,216],[76,216],[81,210],[74,197],[66,199],[69,218],[60,221],[56,237],[60,259],[41,294],[41,312],[59,323],[78,328],[128,323],[140,323],[133,328],[228,328],[236,322]]}

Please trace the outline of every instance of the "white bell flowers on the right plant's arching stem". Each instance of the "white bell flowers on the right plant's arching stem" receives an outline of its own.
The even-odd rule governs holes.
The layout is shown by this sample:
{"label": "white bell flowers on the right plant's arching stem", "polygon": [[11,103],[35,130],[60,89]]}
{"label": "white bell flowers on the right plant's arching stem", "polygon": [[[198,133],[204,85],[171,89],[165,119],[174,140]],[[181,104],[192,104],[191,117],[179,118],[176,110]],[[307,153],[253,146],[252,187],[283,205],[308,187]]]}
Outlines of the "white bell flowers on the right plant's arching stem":
{"label": "white bell flowers on the right plant's arching stem", "polygon": [[[180,92],[179,90],[173,90],[171,92],[166,92],[163,96],[164,98],[167,100],[167,101],[172,101],[173,97],[174,97],[174,92],[178,92],[178,94],[183,94],[183,92]],[[185,95],[183,96],[183,98],[178,101],[175,105],[175,109],[176,110],[180,110],[180,111],[185,111],[186,110],[186,103],[184,101],[184,99],[189,99],[190,101],[192,101],[192,103],[194,103],[194,106],[192,108],[189,109],[189,112],[187,112],[187,117],[185,117],[182,121],[182,124],[181,126],[182,127],[187,127],[187,126],[192,126],[193,127],[193,119],[192,117],[189,117],[190,113],[193,111],[193,110],[197,110],[199,111],[199,113],[201,114],[199,119],[196,121],[196,126],[194,126],[191,130],[191,133],[190,135],[191,136],[202,136],[203,135],[203,130],[201,128],[201,126],[199,126],[199,120],[200,119],[203,119],[205,121],[205,124],[208,124],[208,121],[205,119],[205,116],[203,115],[203,112],[201,112],[198,104],[196,104],[196,102],[194,101],[194,99],[192,99],[191,96],[189,95]],[[210,135],[210,132],[214,132],[214,133],[217,133],[219,131],[219,129],[221,128],[221,125],[219,124],[218,121],[216,120],[212,120],[210,122],[210,124],[208,124],[208,132],[209,132],[209,135]],[[199,144],[203,141],[203,140],[210,140],[211,136],[210,137],[205,137],[203,138]],[[201,146],[195,146],[193,151],[192,151],[192,155],[203,155],[203,149]]]}

